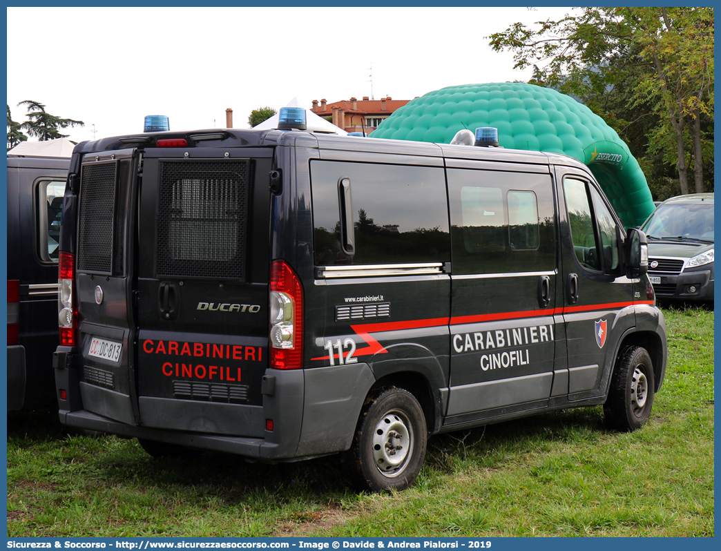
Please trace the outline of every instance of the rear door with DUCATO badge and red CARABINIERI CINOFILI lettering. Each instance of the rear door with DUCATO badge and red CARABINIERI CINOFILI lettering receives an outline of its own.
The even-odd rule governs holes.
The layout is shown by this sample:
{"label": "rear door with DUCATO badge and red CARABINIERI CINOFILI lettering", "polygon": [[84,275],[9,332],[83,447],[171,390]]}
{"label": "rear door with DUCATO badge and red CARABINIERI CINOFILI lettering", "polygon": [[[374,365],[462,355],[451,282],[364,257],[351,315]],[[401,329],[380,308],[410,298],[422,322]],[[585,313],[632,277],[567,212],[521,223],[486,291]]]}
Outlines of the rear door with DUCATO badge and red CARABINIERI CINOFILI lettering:
{"label": "rear door with DUCATO badge and red CARABINIERI CINOFILI lettering", "polygon": [[187,151],[151,149],[143,159],[141,424],[263,436],[273,149]]}

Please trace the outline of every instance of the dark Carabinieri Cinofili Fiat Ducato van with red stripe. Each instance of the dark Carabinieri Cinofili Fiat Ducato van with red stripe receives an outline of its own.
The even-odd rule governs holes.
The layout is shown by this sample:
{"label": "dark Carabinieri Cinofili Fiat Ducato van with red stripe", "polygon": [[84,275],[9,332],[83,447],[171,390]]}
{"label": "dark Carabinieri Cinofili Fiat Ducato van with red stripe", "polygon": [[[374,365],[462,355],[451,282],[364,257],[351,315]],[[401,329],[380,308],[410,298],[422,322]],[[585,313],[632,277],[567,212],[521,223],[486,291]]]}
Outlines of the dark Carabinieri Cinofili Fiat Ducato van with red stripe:
{"label": "dark Carabinieri Cinofili Fiat Ducato van with red stripe", "polygon": [[603,405],[666,365],[647,240],[570,157],[268,130],[75,148],[53,366],[68,426],[149,454],[340,454],[402,490],[428,436]]}

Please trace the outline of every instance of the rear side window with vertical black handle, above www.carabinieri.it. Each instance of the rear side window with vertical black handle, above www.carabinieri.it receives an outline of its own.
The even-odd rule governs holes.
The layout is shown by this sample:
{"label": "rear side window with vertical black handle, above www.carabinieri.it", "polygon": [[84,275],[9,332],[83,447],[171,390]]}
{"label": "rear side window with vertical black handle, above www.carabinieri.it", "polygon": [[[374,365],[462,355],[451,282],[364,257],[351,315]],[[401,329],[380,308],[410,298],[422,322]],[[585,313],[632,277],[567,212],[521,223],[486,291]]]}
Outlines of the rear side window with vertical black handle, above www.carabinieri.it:
{"label": "rear side window with vertical black handle, above www.carabinieri.it", "polygon": [[[341,180],[350,186],[353,255],[341,241]],[[442,167],[313,161],[311,185],[316,265],[451,260]]]}

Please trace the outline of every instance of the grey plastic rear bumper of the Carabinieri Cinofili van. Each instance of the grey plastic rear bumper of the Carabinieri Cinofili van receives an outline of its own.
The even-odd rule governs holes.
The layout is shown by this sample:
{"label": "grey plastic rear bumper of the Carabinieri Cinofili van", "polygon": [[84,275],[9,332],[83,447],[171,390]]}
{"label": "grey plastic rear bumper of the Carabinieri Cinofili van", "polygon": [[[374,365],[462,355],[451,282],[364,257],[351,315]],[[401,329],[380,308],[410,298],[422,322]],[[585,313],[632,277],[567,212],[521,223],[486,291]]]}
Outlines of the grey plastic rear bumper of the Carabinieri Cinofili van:
{"label": "grey plastic rear bumper of the Carabinieri Cinofili van", "polygon": [[58,347],[53,366],[64,425],[267,462],[348,449],[374,382],[366,363],[267,369],[262,406],[140,397],[133,407],[127,394],[82,382],[80,364],[72,349]]}

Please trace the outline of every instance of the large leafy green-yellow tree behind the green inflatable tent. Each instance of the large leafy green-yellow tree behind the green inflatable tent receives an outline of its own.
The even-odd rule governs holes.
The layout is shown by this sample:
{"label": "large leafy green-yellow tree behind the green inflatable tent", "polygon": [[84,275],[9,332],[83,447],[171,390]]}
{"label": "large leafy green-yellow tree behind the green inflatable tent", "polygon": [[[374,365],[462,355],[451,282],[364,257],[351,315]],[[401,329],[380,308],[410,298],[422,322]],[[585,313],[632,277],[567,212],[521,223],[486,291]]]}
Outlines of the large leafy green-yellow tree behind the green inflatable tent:
{"label": "large leafy green-yellow tree behind the green inflatable tent", "polygon": [[643,115],[655,115],[649,146],[673,151],[665,158],[678,170],[681,192],[689,191],[691,157],[702,190],[703,118],[713,116],[714,103],[713,8],[585,7],[538,25],[511,25],[491,35],[490,45],[513,50],[516,68],[533,65],[534,84],[578,97],[603,118],[625,83],[635,118],[644,106]]}

